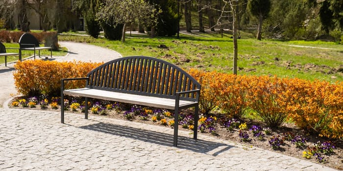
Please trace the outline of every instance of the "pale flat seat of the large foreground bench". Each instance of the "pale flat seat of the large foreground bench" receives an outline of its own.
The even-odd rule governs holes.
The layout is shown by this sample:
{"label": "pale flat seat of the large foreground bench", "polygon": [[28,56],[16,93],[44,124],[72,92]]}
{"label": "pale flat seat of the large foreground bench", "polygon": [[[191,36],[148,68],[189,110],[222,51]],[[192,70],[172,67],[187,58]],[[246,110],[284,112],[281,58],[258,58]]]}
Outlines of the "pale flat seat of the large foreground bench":
{"label": "pale flat seat of the large foreground bench", "polygon": [[[106,90],[90,89],[90,88],[68,89],[68,90],[64,90],[63,93],[74,95],[74,96],[104,99],[104,100],[115,101],[115,102],[123,102],[123,103],[137,104],[137,105],[150,106],[150,107],[159,107],[159,108],[166,108],[166,109],[172,109],[172,110],[175,109],[175,100],[168,99],[168,98],[142,96],[142,95],[136,95],[136,94],[111,92],[111,91],[106,91]],[[192,106],[193,104],[196,104],[196,103],[192,101],[180,100],[179,106],[183,108],[183,106],[188,107],[188,106]]]}

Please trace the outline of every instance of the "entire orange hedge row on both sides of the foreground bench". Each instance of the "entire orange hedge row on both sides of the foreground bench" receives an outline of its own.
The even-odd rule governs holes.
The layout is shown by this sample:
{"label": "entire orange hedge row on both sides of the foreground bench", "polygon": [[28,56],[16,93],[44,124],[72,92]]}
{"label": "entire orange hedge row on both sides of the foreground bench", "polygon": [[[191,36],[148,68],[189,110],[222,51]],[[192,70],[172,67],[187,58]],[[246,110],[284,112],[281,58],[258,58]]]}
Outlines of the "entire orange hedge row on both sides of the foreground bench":
{"label": "entire orange hedge row on both sides of the foreground bench", "polygon": [[[99,63],[24,61],[15,65],[15,85],[24,95],[59,95],[62,78],[85,77]],[[240,119],[247,111],[269,127],[287,119],[299,128],[331,138],[343,138],[343,82],[297,78],[245,76],[216,71],[188,71],[201,84],[200,111],[218,107],[227,118]],[[67,88],[84,86],[69,82]]]}

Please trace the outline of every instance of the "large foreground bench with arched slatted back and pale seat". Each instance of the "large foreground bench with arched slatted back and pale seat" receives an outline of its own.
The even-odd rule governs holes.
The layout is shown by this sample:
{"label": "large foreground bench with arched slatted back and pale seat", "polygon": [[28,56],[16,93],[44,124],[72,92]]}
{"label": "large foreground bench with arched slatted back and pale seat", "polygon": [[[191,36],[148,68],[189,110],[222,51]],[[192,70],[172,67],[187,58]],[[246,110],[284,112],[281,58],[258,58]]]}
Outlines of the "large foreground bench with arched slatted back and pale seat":
{"label": "large foreground bench with arched slatted back and pale seat", "polygon": [[[86,80],[84,88],[64,89],[65,81]],[[174,64],[146,57],[119,58],[100,65],[85,78],[61,80],[61,123],[64,123],[64,94],[174,110],[173,146],[177,146],[178,113],[195,107],[194,139],[197,138],[200,84]]]}

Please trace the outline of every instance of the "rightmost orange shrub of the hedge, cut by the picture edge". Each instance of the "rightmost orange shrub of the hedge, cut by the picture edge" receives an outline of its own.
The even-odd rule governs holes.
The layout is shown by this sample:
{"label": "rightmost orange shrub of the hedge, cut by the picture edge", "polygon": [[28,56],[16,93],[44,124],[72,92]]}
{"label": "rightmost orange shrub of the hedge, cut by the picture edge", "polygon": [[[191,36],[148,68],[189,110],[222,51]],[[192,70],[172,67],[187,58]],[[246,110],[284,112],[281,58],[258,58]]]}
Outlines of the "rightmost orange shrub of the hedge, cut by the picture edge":
{"label": "rightmost orange shrub of the hedge, cut by the picture edge", "polygon": [[290,80],[287,95],[290,118],[308,132],[321,136],[343,137],[343,83]]}

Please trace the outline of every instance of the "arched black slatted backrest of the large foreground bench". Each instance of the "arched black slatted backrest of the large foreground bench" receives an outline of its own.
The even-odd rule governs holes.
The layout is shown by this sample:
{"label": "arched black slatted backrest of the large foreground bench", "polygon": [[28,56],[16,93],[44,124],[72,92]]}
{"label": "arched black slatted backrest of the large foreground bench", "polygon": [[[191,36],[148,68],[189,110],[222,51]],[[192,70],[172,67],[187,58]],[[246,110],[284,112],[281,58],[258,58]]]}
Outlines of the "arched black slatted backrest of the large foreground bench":
{"label": "arched black slatted backrest of the large foreground bench", "polygon": [[[146,57],[119,58],[100,65],[88,73],[86,87],[175,98],[175,92],[200,89],[200,84],[174,64]],[[186,94],[181,100],[198,101],[196,93]]]}

